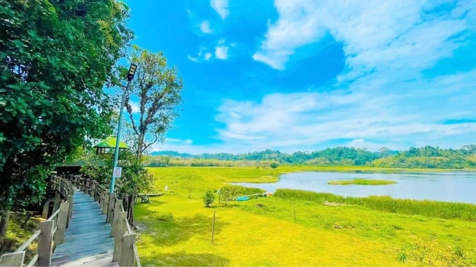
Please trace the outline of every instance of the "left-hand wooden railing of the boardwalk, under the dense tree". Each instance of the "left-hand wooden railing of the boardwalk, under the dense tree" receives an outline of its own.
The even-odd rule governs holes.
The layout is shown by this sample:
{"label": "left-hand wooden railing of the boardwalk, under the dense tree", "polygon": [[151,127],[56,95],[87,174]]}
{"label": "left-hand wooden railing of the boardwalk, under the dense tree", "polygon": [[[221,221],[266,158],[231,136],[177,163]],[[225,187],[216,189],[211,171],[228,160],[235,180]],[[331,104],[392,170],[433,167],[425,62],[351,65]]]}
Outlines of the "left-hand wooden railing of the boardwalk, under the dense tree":
{"label": "left-hand wooden railing of the boardwalk, under the dense tree", "polygon": [[[64,241],[64,232],[69,225],[73,208],[73,185],[69,180],[53,176],[50,183],[51,189],[57,192],[55,199],[50,199],[43,206],[43,216],[48,217],[50,204],[51,215],[40,223],[40,229],[33,233],[15,252],[1,255],[0,266],[50,266],[51,255],[55,247]],[[63,199],[61,199],[61,196]],[[25,264],[25,250],[34,240],[38,239],[36,254],[29,263]]]}

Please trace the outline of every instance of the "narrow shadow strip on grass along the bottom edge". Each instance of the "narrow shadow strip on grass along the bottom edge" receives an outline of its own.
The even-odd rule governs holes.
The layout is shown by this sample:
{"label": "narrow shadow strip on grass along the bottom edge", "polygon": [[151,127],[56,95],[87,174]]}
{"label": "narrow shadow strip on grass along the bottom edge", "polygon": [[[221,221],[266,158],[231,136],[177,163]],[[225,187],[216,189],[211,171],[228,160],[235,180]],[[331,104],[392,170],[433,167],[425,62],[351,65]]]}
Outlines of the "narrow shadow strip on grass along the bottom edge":
{"label": "narrow shadow strip on grass along the bottom edge", "polygon": [[141,257],[144,266],[228,266],[230,260],[209,253],[154,254],[153,257]]}

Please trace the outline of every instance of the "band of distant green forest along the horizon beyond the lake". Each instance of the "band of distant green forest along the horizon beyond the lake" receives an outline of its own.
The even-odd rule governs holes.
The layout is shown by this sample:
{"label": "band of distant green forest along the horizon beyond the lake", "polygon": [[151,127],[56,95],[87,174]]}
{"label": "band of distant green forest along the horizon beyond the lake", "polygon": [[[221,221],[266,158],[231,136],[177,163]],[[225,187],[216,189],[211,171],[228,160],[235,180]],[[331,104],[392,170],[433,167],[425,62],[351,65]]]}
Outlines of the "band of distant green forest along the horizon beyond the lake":
{"label": "band of distant green forest along the horizon beyond the lake", "polygon": [[355,147],[335,147],[313,152],[283,153],[265,150],[244,154],[183,154],[174,151],[153,152],[148,166],[375,166],[384,168],[476,168],[476,145],[458,150],[440,147],[411,147],[405,151],[382,147],[379,152]]}

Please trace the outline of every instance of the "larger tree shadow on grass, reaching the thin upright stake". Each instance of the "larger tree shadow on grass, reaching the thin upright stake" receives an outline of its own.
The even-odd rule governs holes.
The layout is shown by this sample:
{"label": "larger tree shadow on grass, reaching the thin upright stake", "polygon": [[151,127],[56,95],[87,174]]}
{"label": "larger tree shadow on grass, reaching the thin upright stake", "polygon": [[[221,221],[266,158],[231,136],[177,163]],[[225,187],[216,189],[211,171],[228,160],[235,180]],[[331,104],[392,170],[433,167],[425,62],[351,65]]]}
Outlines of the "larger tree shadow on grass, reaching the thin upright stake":
{"label": "larger tree shadow on grass, reaching the thin upright stake", "polygon": [[[185,242],[192,237],[211,240],[211,228],[213,224],[213,214],[197,214],[186,217],[173,217],[170,213],[156,212],[148,210],[148,215],[141,218],[145,223],[144,234],[151,237],[151,245],[165,247],[177,243]],[[215,224],[215,235],[221,233],[228,222],[221,222],[217,213]]]}

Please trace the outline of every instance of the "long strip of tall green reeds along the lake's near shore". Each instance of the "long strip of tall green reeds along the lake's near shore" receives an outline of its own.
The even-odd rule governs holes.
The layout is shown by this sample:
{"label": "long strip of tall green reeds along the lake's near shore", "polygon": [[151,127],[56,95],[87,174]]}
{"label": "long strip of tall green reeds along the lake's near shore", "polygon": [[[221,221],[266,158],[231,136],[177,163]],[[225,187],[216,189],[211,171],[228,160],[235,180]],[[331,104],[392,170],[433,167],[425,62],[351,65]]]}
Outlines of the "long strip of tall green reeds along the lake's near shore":
{"label": "long strip of tall green reeds along the lake's near shore", "polygon": [[277,189],[274,193],[281,199],[300,199],[301,201],[324,201],[360,205],[372,210],[395,212],[406,215],[423,215],[442,219],[463,219],[476,222],[476,205],[439,201],[416,201],[412,199],[392,199],[390,196],[337,196],[330,193],[317,193],[295,189]]}

